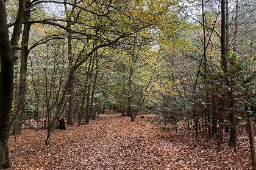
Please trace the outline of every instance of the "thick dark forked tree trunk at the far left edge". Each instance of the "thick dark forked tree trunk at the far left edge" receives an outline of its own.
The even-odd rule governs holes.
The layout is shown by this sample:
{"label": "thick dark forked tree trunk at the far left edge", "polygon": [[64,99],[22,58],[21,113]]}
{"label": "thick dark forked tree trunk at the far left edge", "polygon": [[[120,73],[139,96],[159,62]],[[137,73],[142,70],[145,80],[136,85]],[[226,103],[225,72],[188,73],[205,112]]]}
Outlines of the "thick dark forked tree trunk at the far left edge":
{"label": "thick dark forked tree trunk at the far left edge", "polygon": [[10,114],[13,100],[14,52],[20,40],[24,19],[25,0],[19,1],[18,14],[9,39],[5,1],[0,5],[0,169],[10,168],[8,140],[10,136]]}

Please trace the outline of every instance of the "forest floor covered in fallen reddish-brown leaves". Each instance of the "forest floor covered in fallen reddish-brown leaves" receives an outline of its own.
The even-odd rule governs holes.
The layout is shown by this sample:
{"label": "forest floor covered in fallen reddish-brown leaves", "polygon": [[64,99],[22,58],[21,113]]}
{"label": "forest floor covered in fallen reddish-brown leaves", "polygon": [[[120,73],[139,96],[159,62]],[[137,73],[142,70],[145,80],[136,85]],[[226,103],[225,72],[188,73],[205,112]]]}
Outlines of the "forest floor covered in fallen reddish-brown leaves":
{"label": "forest floor covered in fallen reddish-brown leaves", "polygon": [[107,111],[90,124],[56,129],[50,146],[44,145],[46,130],[25,129],[16,143],[13,136],[9,140],[12,169],[251,169],[245,134],[238,137],[236,154],[227,137],[217,152],[215,139],[194,140],[183,126],[176,137],[174,129],[163,131],[150,117],[130,122]]}

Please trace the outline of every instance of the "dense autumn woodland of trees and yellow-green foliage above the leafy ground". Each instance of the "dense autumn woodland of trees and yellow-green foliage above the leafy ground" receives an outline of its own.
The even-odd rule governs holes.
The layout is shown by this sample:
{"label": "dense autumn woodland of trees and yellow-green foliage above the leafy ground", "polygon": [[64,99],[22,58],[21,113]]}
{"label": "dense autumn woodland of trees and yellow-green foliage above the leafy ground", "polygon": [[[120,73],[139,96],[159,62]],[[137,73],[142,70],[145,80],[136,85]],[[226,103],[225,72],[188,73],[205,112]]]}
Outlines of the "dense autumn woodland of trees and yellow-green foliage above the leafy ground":
{"label": "dense autumn woodland of trees and yellow-green foliage above the leafy ground", "polygon": [[0,169],[27,120],[50,145],[61,118],[81,126],[105,110],[236,152],[256,105],[255,19],[249,0],[1,0]]}

